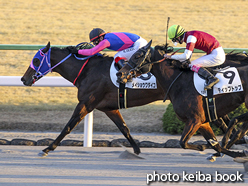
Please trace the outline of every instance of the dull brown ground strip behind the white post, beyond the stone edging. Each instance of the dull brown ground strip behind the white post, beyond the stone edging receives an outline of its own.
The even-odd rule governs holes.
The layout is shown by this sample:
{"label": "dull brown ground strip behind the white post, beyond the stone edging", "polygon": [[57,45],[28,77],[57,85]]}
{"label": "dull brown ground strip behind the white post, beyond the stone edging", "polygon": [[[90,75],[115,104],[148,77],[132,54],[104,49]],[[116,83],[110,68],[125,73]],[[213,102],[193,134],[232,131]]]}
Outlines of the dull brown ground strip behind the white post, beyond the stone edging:
{"label": "dull brown ground strip behind the white post, beyond the stone edging", "polygon": [[[131,132],[162,133],[162,117],[170,102],[156,101],[148,105],[120,110]],[[1,110],[0,131],[38,131],[60,132],[72,116],[74,108],[67,110]],[[93,128],[95,132],[119,132],[115,124],[98,110],[93,112]],[[73,129],[84,131],[84,120]]]}

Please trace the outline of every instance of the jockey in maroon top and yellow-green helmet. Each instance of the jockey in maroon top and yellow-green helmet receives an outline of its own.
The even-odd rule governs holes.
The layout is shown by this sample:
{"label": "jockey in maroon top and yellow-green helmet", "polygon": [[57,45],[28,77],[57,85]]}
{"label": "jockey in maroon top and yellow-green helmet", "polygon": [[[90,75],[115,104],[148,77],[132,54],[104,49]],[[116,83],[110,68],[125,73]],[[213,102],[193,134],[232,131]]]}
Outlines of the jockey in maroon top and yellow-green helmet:
{"label": "jockey in maroon top and yellow-green helmet", "polygon": [[176,45],[177,43],[186,43],[186,49],[180,55],[165,54],[165,58],[185,61],[190,59],[194,48],[202,50],[207,54],[191,61],[190,70],[198,73],[206,79],[204,89],[211,89],[219,79],[216,78],[204,67],[214,67],[225,62],[226,55],[220,43],[208,33],[202,31],[185,31],[180,25],[173,25],[168,29],[169,39]]}

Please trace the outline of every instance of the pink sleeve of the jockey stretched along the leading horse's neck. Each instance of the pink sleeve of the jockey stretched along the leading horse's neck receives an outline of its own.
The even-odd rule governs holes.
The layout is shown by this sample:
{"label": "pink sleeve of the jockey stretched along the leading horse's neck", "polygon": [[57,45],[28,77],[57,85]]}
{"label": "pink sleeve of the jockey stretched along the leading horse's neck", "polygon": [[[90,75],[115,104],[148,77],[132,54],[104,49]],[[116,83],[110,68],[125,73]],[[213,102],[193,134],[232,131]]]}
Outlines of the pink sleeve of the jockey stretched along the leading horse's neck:
{"label": "pink sleeve of the jockey stretched along the leading horse's neck", "polygon": [[92,55],[95,55],[98,52],[101,52],[102,50],[104,50],[105,48],[107,48],[109,46],[110,46],[109,41],[104,39],[98,45],[96,45],[95,47],[93,47],[91,49],[78,50],[78,54],[81,54],[83,56],[92,56]]}

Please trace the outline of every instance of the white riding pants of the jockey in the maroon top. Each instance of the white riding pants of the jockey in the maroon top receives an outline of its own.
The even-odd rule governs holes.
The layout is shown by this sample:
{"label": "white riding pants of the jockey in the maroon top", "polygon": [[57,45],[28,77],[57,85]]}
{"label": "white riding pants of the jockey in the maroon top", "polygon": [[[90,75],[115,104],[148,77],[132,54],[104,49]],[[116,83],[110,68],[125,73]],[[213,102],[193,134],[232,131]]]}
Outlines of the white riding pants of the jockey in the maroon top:
{"label": "white riding pants of the jockey in the maroon top", "polygon": [[222,47],[214,49],[210,54],[199,57],[198,59],[191,61],[191,66],[197,67],[214,67],[221,65],[225,62],[226,55]]}

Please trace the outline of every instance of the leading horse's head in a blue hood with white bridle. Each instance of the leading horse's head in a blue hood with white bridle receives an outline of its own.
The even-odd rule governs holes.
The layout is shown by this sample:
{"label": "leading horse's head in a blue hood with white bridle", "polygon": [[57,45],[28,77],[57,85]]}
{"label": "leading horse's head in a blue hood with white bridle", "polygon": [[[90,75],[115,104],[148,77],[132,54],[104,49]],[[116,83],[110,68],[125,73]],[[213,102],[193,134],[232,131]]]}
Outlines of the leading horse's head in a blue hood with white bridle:
{"label": "leading horse's head in a blue hood with white bridle", "polygon": [[41,77],[51,71],[50,54],[51,48],[50,42],[48,42],[44,48],[35,54],[30,66],[21,78],[24,85],[32,86]]}

